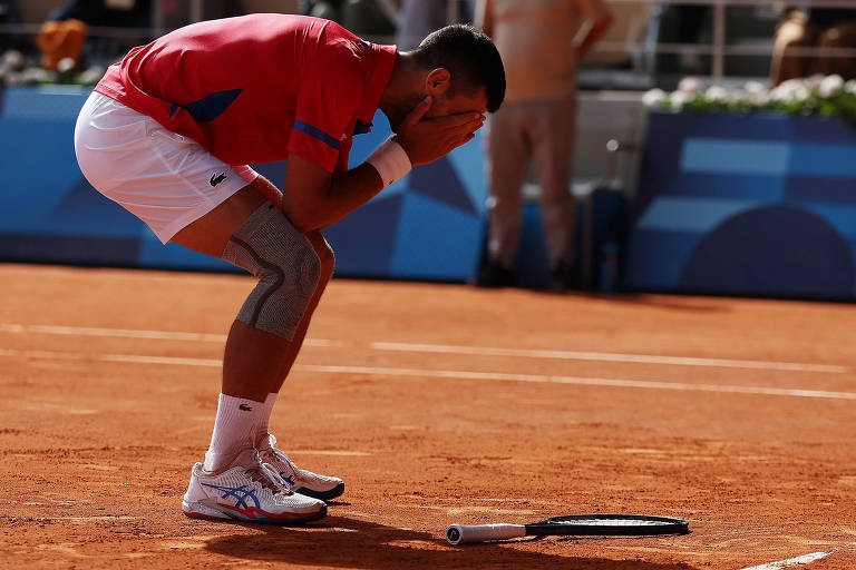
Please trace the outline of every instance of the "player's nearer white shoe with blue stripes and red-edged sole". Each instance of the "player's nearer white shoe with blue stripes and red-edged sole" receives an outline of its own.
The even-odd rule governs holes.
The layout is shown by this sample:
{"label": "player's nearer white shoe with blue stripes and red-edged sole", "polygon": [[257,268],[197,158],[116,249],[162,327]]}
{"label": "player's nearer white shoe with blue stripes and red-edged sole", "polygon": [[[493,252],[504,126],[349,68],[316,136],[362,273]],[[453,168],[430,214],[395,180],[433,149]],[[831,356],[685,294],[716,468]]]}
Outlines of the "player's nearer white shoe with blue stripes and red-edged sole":
{"label": "player's nearer white shoe with blue stripes and red-edged sole", "polygon": [[256,450],[247,448],[237,454],[231,468],[218,474],[208,473],[202,463],[196,463],[182,511],[194,519],[301,524],[323,518],[327,504],[292,492],[261,463]]}

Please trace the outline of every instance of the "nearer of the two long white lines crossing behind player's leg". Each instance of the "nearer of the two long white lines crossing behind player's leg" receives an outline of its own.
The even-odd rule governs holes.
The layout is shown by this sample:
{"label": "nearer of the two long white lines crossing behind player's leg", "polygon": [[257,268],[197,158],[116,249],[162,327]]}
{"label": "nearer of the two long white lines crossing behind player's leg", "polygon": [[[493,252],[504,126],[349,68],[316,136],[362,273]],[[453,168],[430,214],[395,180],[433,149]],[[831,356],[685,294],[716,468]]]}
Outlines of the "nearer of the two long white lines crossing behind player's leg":
{"label": "nearer of the two long white lines crossing behind player's leg", "polygon": [[[36,356],[41,358],[69,358],[69,353],[46,351],[0,351],[0,356]],[[80,355],[74,355],[81,357]],[[178,358],[173,356],[146,356],[139,354],[104,354],[94,360],[104,362],[128,362],[137,364],[169,364],[184,366],[221,367],[215,358]],[[575,384],[585,386],[635,387],[646,390],[673,390],[681,392],[716,392],[724,394],[772,395],[790,397],[818,397],[827,400],[856,400],[854,392],[825,392],[820,390],[779,389],[765,386],[736,386],[724,384],[688,384],[683,382],[659,382],[645,380],[615,380],[577,376],[552,376],[539,374],[507,374],[499,372],[474,372],[457,370],[396,368],[381,366],[322,366],[314,364],[295,365],[295,371],[327,374],[374,374],[382,376],[418,376],[457,380],[493,380],[499,382],[533,382],[542,384]]]}

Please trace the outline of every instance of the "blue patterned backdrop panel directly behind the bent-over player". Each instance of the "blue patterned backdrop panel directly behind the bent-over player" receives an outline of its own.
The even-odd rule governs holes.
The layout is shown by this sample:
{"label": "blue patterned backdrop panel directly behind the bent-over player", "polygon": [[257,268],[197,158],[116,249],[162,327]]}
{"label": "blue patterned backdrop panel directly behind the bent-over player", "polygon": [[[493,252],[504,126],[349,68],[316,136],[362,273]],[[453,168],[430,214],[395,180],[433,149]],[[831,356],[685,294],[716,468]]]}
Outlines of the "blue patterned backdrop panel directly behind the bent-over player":
{"label": "blue patterned backdrop panel directly behind the bent-over player", "polygon": [[[181,246],[163,246],[136,217],[98,194],[75,158],[77,114],[89,91],[0,90],[0,261],[240,271]],[[372,132],[354,138],[351,165],[389,135],[378,112]],[[254,165],[282,187],[285,163]],[[479,136],[420,166],[328,228],[337,274],[467,281],[480,254],[485,199]]]}

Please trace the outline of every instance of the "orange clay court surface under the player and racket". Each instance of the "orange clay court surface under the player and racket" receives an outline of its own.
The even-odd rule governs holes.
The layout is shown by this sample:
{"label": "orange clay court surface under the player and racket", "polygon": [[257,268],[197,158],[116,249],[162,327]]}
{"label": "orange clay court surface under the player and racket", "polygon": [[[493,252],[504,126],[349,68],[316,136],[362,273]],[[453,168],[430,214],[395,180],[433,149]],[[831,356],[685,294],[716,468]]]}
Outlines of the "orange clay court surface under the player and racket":
{"label": "orange clay court surface under the player and racket", "polygon": [[[249,277],[0,284],[2,568],[856,568],[856,305],[333,279],[272,428],[347,491],[276,528],[179,510]],[[692,533],[444,540],[591,512]]]}

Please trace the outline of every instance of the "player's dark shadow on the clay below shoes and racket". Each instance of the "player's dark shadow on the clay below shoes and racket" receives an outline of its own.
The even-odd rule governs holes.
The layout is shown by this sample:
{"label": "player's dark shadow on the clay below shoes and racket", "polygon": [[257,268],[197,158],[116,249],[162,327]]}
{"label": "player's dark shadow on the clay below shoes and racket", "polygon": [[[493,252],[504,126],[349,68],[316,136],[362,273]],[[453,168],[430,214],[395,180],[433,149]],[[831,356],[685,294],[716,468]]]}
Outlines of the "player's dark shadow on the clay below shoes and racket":
{"label": "player's dark shadow on the clay below shoes and racket", "polygon": [[[307,527],[232,523],[257,531],[210,539],[206,550],[217,554],[299,567],[401,570],[402,568],[585,568],[586,570],[694,570],[688,564],[639,560],[606,560],[526,552],[497,543],[450,547],[438,534],[401,530],[371,522],[328,517]],[[526,539],[524,539],[526,540]]]}

